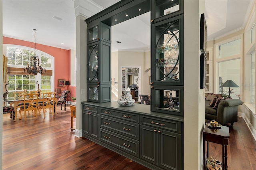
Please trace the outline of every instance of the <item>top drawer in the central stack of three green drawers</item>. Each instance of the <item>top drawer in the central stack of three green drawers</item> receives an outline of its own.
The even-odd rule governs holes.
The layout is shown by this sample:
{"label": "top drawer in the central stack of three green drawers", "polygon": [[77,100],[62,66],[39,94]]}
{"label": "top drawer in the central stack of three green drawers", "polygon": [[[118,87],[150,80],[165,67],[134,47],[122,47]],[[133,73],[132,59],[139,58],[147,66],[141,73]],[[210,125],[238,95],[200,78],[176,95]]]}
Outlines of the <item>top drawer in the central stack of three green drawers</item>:
{"label": "top drawer in the central stack of three green drawers", "polygon": [[125,112],[121,113],[121,112],[113,111],[111,109],[100,108],[100,114],[123,119],[126,121],[133,121],[133,122],[139,123],[139,119],[138,119],[139,116],[132,113],[125,113]]}

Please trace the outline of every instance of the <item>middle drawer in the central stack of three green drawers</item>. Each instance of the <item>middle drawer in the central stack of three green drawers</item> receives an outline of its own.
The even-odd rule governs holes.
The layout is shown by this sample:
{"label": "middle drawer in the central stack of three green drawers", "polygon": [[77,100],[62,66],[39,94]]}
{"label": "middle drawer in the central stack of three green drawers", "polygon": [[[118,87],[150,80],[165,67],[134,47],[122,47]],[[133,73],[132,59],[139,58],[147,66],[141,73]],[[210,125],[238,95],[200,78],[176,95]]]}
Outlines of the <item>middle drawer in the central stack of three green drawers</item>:
{"label": "middle drawer in the central stack of three green drawers", "polygon": [[136,140],[139,139],[139,124],[137,123],[100,115],[100,127]]}

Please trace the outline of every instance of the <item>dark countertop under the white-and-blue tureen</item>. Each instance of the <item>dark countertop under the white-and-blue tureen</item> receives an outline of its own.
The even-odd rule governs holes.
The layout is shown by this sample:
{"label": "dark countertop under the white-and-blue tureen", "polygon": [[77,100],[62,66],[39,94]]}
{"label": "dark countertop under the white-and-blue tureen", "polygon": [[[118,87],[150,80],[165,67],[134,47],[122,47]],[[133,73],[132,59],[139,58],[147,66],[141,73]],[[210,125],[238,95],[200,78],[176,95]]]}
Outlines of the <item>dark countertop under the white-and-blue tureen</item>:
{"label": "dark countertop under the white-and-blue tureen", "polygon": [[130,113],[139,113],[140,115],[148,115],[148,116],[154,116],[158,118],[166,118],[166,119],[172,119],[174,121],[182,122],[184,121],[182,116],[176,116],[176,115],[171,115],[171,114],[166,114],[166,113],[160,113],[160,112],[153,112],[150,111],[150,105],[143,105],[139,103],[134,103],[132,106],[120,106],[117,101],[111,101],[111,102],[106,102],[106,103],[94,103],[94,102],[88,102],[88,101],[82,101],[82,104],[87,104],[87,105],[93,105],[93,106],[98,106],[98,107],[104,107],[108,109],[115,109],[119,111],[127,111]]}

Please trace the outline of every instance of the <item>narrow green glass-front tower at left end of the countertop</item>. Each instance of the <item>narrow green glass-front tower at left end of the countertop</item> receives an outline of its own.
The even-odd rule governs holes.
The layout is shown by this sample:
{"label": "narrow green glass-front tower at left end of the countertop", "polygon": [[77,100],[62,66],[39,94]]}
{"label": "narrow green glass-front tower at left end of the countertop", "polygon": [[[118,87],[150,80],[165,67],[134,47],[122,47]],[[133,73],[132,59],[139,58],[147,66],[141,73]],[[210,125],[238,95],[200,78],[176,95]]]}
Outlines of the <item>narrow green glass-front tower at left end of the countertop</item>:
{"label": "narrow green glass-front tower at left end of the countertop", "polygon": [[111,101],[111,27],[88,27],[87,42],[87,100]]}

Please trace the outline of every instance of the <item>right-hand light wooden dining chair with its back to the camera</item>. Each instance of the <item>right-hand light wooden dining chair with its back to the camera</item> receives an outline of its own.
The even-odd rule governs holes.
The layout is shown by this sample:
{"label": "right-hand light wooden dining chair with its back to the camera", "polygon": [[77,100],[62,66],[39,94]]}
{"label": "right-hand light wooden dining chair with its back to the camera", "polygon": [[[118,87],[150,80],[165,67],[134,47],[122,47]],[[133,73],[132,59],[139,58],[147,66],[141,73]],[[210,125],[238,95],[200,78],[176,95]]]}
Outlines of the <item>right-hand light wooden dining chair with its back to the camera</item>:
{"label": "right-hand light wooden dining chair with its back to the camera", "polygon": [[38,104],[38,109],[43,109],[44,117],[46,113],[46,108],[49,108],[49,113],[54,115],[55,95],[55,92],[43,93],[44,100],[43,103]]}

